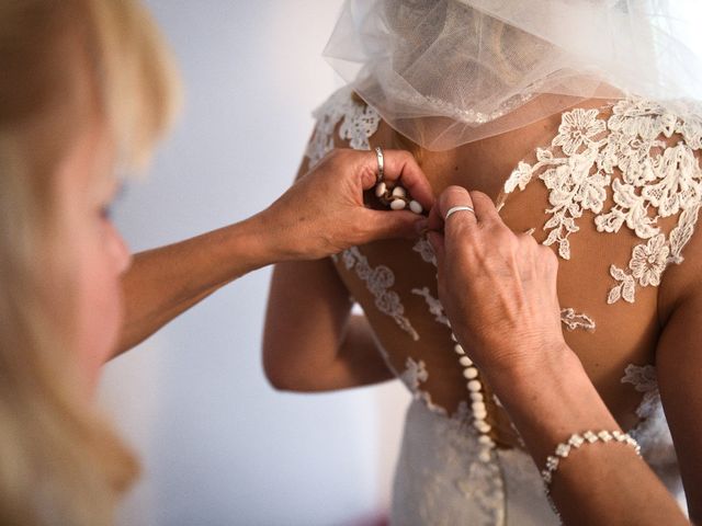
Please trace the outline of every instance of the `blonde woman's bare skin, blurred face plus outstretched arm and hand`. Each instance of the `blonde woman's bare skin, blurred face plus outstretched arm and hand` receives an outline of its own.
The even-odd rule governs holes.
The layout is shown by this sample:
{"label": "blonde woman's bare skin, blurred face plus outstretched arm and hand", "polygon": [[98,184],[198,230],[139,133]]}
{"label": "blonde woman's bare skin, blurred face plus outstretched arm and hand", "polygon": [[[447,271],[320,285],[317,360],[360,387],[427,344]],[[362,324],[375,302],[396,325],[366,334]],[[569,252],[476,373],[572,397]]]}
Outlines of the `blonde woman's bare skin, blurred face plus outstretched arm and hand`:
{"label": "blonde woman's bare skin, blurred face plus outstretched arm and hand", "polygon": [[[94,96],[82,55],[73,67],[71,113],[81,123],[55,173],[58,208],[47,254],[54,261],[42,284],[44,300],[72,342],[86,391],[92,395],[101,366],[132,348],[178,315],[241,275],[279,261],[319,259],[344,248],[394,237],[412,237],[427,219],[410,211],[366,208],[363,192],[376,182],[374,152],[337,149],[265,210],[228,227],[132,256],[109,214],[118,190],[116,148]],[[44,129],[49,116],[37,119]],[[411,191],[424,209],[434,197],[406,151],[385,150],[385,180]],[[60,282],[60,283],[59,283]],[[75,319],[66,309],[72,295]]]}

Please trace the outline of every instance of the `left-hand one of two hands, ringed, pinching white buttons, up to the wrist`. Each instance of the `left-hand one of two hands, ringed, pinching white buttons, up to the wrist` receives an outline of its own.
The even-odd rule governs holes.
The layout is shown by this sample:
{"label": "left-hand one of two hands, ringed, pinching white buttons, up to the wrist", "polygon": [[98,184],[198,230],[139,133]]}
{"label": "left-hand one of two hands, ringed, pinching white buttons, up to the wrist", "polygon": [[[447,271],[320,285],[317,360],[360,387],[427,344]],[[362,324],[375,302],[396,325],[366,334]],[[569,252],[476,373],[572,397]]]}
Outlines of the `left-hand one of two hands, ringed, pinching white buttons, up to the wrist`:
{"label": "left-hand one of two hands, ringed, pinching white buttons, up to the wrist", "polygon": [[[429,210],[434,197],[415,158],[400,150],[383,153],[384,181],[401,184]],[[374,151],[332,150],[261,213],[282,259],[319,259],[380,239],[416,237],[426,218],[363,205],[363,192],[375,185],[376,173]]]}

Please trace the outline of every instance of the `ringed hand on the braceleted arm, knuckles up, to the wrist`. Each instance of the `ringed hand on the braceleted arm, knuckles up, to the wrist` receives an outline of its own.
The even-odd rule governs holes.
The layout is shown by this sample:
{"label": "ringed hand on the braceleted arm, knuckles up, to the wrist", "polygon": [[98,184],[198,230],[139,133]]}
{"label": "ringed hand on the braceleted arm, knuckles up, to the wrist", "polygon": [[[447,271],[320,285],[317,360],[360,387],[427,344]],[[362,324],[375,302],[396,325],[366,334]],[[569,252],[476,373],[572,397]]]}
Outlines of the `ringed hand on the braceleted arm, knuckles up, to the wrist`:
{"label": "ringed hand on the braceleted arm, knuckles up, to the wrist", "polygon": [[[450,208],[467,205],[444,217]],[[558,260],[528,233],[512,232],[482,192],[450,186],[429,217],[439,297],[466,354],[488,377],[524,376],[571,353],[561,328]],[[443,233],[441,233],[443,231]]]}

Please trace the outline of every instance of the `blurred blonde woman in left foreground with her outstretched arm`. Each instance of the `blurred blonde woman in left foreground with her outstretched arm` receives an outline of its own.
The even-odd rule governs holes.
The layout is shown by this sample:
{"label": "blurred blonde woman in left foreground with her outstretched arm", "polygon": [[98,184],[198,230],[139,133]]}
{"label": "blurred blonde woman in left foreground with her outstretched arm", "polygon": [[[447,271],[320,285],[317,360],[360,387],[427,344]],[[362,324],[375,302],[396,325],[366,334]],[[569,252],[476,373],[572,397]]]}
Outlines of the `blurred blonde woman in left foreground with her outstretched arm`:
{"label": "blurred blonde woman in left foreground with her outstretched arm", "polygon": [[[138,462],[93,407],[109,357],[245,272],[415,232],[409,211],[363,207],[375,156],[338,151],[262,214],[126,273],[115,171],[144,167],[177,105],[137,0],[0,3],[0,524],[112,523]],[[411,156],[386,153],[429,208]]]}

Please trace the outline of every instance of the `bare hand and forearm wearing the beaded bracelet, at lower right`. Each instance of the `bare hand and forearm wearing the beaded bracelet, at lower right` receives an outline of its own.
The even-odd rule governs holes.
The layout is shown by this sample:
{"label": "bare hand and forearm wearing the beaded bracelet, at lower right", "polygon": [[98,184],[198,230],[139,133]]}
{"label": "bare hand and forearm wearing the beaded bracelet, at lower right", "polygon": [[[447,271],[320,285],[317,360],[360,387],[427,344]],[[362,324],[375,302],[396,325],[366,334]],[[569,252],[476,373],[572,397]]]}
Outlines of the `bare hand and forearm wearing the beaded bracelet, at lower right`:
{"label": "bare hand and forearm wearing the beaded bracelet, at lower right", "polygon": [[[460,211],[444,225],[442,218],[457,205],[473,206],[475,214]],[[573,430],[622,431],[563,339],[554,252],[532,236],[512,232],[487,195],[457,186],[441,195],[430,228],[443,230],[430,239],[452,329],[536,465],[544,466],[554,444]],[[548,419],[534,418],[539,414]],[[612,517],[621,517],[618,524],[689,524],[633,448],[598,446],[574,451],[556,472],[553,495],[566,524],[607,524]],[[588,480],[597,484],[584,483]]]}

